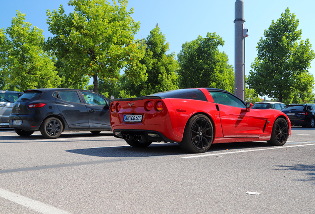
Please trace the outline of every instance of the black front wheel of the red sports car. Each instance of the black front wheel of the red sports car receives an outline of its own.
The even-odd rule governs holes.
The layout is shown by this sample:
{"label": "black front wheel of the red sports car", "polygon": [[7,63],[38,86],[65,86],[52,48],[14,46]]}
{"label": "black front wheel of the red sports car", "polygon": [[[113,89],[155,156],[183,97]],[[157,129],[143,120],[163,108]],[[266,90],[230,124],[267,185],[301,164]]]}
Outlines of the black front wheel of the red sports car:
{"label": "black front wheel of the red sports car", "polygon": [[272,126],[271,138],[268,142],[271,146],[283,146],[289,137],[289,125],[283,118],[278,118]]}

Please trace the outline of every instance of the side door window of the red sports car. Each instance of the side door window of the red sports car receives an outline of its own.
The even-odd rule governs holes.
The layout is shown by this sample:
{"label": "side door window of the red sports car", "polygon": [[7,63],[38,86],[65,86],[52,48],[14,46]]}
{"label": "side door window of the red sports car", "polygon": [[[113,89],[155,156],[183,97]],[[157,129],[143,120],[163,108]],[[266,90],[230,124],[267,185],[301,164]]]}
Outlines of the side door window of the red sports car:
{"label": "side door window of the red sports car", "polygon": [[232,107],[246,107],[241,100],[231,94],[219,91],[210,91],[210,95],[212,96],[214,103]]}

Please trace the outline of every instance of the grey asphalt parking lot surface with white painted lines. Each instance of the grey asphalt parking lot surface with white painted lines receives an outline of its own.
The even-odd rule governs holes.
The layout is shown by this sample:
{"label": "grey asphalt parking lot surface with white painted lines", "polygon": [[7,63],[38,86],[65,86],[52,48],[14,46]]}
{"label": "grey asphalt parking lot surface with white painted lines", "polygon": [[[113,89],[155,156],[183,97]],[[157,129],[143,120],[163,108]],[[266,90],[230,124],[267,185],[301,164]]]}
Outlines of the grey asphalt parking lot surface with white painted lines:
{"label": "grey asphalt parking lot surface with white painted lines", "polygon": [[282,147],[133,148],[111,132],[44,139],[0,129],[0,214],[312,214],[315,129]]}

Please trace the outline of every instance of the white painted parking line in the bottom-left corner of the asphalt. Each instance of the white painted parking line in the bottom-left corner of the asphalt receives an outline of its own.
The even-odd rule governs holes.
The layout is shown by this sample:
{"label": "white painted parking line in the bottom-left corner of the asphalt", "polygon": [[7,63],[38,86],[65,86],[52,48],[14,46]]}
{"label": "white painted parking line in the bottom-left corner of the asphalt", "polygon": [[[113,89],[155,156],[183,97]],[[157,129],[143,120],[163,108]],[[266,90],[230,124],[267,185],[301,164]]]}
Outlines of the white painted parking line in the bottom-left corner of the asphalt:
{"label": "white painted parking line in the bottom-left corner of the asphalt", "polygon": [[0,197],[6,200],[12,201],[24,207],[27,207],[33,211],[39,212],[41,214],[70,214],[66,211],[59,210],[50,205],[44,204],[39,201],[35,201],[29,198],[26,198],[22,195],[12,193],[10,191],[0,188]]}

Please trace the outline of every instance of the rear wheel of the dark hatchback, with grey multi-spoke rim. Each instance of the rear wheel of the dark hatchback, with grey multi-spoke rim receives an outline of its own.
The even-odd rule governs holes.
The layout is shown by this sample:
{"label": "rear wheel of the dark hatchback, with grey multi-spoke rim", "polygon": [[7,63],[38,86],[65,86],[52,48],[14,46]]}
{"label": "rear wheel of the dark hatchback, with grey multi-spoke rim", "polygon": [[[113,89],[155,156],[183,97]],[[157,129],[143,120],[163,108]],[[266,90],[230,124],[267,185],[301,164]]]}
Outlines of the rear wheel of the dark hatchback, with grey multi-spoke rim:
{"label": "rear wheel of the dark hatchback, with grey multi-spoke rim", "polygon": [[44,120],[40,131],[45,138],[58,138],[63,130],[62,122],[55,117]]}

